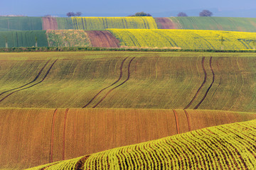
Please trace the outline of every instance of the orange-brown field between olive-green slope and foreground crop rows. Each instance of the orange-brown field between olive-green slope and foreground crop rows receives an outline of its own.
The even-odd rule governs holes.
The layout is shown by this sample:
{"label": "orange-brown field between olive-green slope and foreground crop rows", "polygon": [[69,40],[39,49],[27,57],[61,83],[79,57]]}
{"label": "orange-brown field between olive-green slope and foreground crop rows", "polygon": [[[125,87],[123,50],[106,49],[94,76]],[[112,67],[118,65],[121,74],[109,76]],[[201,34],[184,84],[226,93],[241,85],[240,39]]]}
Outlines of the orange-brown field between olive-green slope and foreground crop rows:
{"label": "orange-brown field between olive-green slope and foreground crop rows", "polygon": [[[214,125],[255,113],[162,109],[1,108],[0,169],[25,169]],[[178,126],[178,127],[177,127]]]}

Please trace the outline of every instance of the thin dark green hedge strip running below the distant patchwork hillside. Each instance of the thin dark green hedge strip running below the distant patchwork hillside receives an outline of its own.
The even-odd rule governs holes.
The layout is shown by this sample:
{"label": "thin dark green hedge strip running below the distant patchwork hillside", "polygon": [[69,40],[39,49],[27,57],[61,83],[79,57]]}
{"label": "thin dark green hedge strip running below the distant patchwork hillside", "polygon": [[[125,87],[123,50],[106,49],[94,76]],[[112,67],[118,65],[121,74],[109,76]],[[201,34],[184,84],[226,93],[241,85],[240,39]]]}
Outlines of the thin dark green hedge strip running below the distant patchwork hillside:
{"label": "thin dark green hedge strip running below the distant patchwork hillside", "polygon": [[134,51],[134,52],[256,52],[256,50],[189,50],[171,48],[134,48],[134,47],[0,47],[0,52],[73,52],[73,51]]}

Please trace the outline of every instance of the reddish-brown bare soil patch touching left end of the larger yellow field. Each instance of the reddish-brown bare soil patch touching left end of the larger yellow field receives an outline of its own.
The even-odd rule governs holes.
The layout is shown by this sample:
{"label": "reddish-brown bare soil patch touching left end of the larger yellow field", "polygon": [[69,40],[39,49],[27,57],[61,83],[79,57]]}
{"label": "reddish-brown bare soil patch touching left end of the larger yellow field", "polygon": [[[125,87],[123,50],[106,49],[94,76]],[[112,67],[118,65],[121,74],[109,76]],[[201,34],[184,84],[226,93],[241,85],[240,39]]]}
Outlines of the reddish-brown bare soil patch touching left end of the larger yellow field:
{"label": "reddish-brown bare soil patch touching left end of the larger yellow field", "polygon": [[119,47],[119,40],[107,30],[86,31],[92,47]]}

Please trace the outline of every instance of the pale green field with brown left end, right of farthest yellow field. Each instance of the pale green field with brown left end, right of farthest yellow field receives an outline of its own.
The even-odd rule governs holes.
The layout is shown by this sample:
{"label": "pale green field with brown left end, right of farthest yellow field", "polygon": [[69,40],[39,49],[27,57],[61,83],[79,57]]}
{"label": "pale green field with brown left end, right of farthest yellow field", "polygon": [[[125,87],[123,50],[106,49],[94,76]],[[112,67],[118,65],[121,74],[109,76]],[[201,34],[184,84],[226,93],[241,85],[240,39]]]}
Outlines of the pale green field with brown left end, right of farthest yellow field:
{"label": "pale green field with brown left end, right of farthest yellow field", "polygon": [[256,18],[236,17],[170,17],[155,18],[160,29],[230,30],[256,32]]}

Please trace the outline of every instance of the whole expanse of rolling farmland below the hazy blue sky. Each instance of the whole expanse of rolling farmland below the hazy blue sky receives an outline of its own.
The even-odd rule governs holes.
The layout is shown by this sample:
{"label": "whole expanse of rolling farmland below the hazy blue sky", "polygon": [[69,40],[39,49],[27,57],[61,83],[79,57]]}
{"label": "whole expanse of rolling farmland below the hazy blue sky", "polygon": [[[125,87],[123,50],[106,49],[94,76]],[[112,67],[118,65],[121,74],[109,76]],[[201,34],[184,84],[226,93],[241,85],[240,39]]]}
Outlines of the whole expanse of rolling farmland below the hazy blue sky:
{"label": "whole expanse of rolling farmland below the hazy blue sky", "polygon": [[255,28],[256,18],[0,17],[0,170],[256,169]]}

